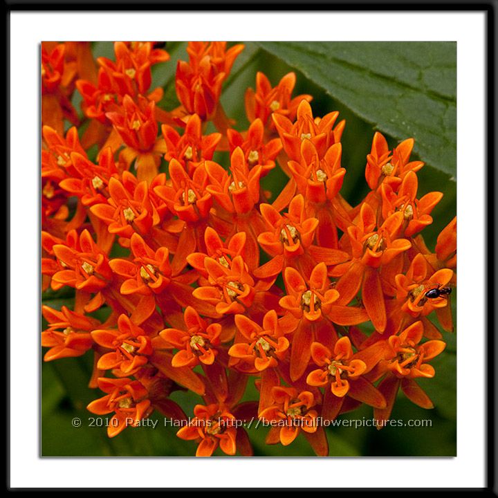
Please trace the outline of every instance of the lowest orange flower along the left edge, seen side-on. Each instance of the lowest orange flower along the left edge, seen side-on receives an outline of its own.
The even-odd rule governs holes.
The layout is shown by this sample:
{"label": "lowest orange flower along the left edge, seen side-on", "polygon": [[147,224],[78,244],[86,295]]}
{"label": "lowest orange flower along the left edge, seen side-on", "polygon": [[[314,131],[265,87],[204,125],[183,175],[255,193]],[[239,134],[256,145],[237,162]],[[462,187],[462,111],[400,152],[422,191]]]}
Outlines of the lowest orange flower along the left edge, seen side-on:
{"label": "lowest orange flower along the left edge, seen side-on", "polygon": [[98,320],[75,313],[66,306],[62,306],[61,311],[42,306],[42,313],[48,322],[48,329],[42,332],[42,346],[50,348],[45,353],[45,361],[82,356],[92,347],[90,331],[100,324]]}

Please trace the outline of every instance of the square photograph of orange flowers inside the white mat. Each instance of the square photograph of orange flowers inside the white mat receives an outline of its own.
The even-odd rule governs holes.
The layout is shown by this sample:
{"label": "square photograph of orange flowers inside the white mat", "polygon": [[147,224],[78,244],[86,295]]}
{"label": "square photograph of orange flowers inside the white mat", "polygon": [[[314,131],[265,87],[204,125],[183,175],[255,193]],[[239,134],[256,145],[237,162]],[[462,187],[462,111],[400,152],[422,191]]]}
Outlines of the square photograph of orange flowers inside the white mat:
{"label": "square photograph of orange flowers inside the white mat", "polygon": [[457,455],[456,42],[40,71],[41,457]]}

